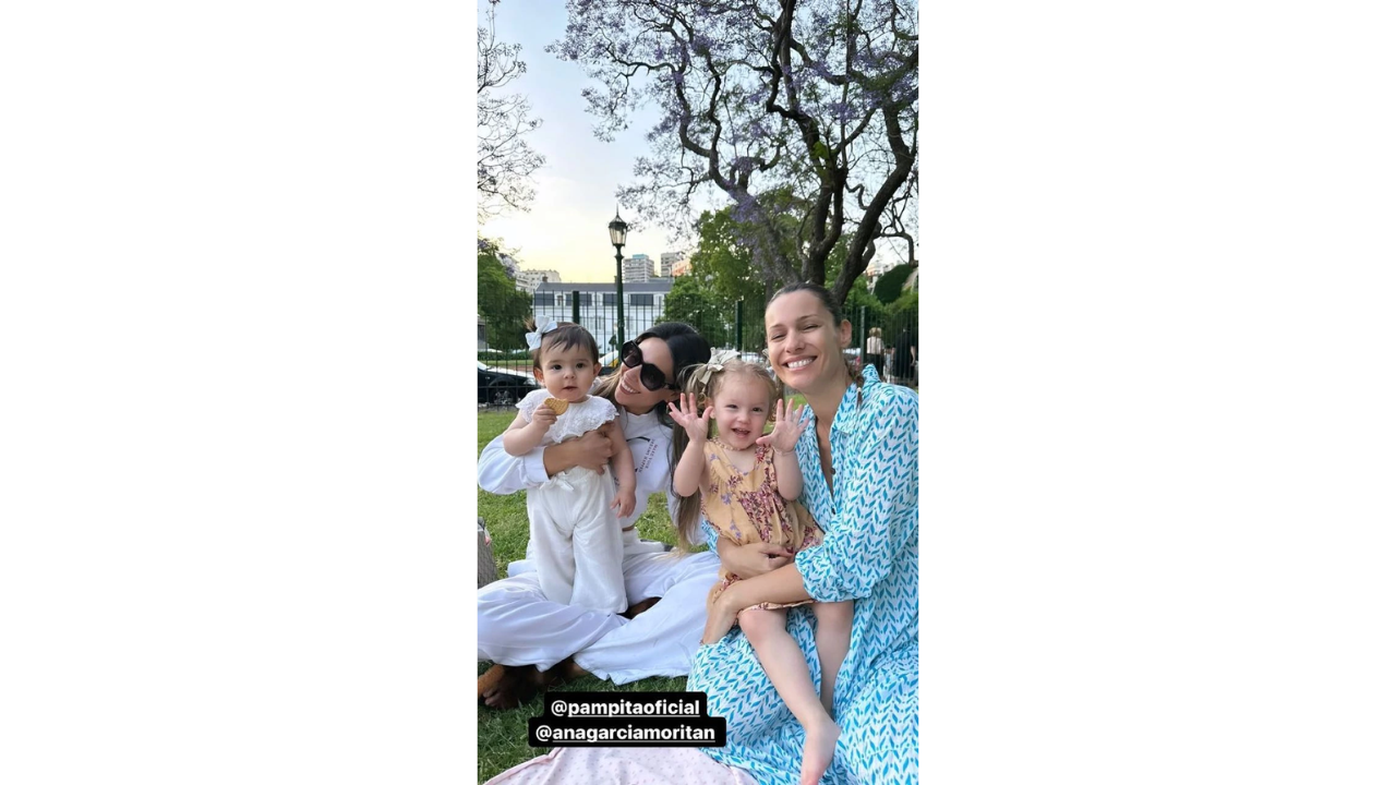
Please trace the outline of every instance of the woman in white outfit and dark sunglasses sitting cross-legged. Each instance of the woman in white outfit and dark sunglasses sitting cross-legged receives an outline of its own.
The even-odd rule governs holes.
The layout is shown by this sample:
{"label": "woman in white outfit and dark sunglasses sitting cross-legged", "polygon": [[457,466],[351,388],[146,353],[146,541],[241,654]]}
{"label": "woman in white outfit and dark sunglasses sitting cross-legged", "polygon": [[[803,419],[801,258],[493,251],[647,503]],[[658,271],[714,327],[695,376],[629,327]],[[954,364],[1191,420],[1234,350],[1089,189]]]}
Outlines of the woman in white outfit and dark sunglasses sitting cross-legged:
{"label": "woman in white outfit and dark sunglasses sitting cross-legged", "polygon": [[[620,370],[597,383],[595,395],[616,402],[625,441],[635,460],[635,510],[620,518],[624,549],[621,568],[631,606],[659,598],[632,619],[549,602],[539,587],[530,542],[522,562],[510,564],[510,577],[475,592],[475,658],[500,666],[476,683],[489,705],[511,708],[528,700],[547,672],[567,658],[578,669],[624,684],[648,676],[684,676],[698,651],[706,619],[706,596],[718,570],[715,553],[674,559],[663,546],[641,542],[635,521],[651,493],[671,490],[673,426],[664,404],[678,398],[676,372],[708,362],[708,341],[681,323],[656,324],[621,351]],[[522,458],[508,455],[503,437],[486,446],[476,479],[490,493],[539,487],[558,472],[586,467],[602,471],[610,458],[609,441],[596,432],[582,439],[535,448]],[[772,559],[769,567],[789,559]],[[560,669],[561,670],[561,669]],[[554,673],[547,676],[560,676]],[[482,687],[482,684],[484,684]]]}

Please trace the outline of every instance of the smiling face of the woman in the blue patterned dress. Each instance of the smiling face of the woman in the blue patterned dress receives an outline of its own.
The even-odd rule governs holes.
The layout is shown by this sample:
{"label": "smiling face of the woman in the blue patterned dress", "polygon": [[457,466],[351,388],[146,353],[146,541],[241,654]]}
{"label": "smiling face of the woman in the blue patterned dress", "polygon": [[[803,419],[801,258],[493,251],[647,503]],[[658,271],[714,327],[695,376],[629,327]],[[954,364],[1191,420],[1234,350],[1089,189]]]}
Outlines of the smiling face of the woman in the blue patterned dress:
{"label": "smiling face of the woman in the blue patterned dress", "polygon": [[810,292],[790,292],[766,306],[766,351],[776,376],[801,392],[819,390],[826,383],[847,384],[843,346],[849,345],[853,325],[835,324],[819,298]]}

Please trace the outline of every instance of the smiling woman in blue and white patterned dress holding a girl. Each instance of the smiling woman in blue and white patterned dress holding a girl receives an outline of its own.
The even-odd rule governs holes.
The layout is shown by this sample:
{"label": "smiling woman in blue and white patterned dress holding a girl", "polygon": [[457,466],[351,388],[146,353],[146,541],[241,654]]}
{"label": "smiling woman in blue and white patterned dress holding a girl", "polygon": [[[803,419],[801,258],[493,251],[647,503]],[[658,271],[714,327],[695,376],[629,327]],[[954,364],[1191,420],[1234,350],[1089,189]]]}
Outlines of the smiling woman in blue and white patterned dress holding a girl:
{"label": "smiling woman in blue and white patterned dress holding a girl", "polygon": [[[843,359],[852,324],[822,286],[794,284],[766,306],[771,365],[804,394],[814,427],[796,446],[803,501],[824,543],[771,568],[759,545],[713,542],[723,566],[743,577],[711,606],[690,690],[727,721],[727,746],[705,751],[762,784],[920,782],[921,413],[920,398],[882,383],[871,366],[857,377]],[[740,631],[737,610],[759,602],[859,601],[849,654],[833,684],[840,733],[824,777],[799,778],[805,736]],[[821,683],[814,617],[793,609],[787,630]],[[711,644],[711,645],[709,645]]]}

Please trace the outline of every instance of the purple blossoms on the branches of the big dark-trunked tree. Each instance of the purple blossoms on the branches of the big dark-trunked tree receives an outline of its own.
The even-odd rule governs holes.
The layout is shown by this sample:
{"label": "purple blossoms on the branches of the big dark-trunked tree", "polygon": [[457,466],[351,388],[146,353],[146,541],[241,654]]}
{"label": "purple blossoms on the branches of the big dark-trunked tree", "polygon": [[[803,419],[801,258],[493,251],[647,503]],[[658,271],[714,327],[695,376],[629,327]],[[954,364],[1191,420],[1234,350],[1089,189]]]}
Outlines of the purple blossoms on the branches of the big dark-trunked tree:
{"label": "purple blossoms on the branches of the big dark-trunked tree", "polygon": [[[764,214],[755,198],[773,183],[789,183],[792,172],[796,173],[797,197],[808,203],[814,196],[811,189],[818,187],[815,179],[808,176],[808,154],[794,135],[799,129],[765,108],[772,94],[778,105],[811,116],[819,130],[819,141],[829,149],[846,141],[842,134],[860,127],[859,120],[871,102],[914,105],[919,94],[919,67],[910,67],[895,84],[885,78],[889,70],[906,67],[906,57],[916,46],[892,35],[889,22],[893,7],[896,32],[917,35],[916,3],[864,0],[857,6],[860,11],[854,20],[846,17],[846,10],[852,7],[843,3],[796,3],[793,32],[807,54],[793,56],[789,71],[776,75],[762,70],[772,60],[773,36],[752,15],[752,6],[758,4],[568,0],[565,36],[550,47],[553,54],[578,61],[589,77],[584,96],[588,110],[599,119],[595,129],[597,137],[613,138],[645,105],[659,108],[659,117],[648,133],[649,155],[637,161],[635,179],[620,184],[618,193],[624,193],[625,201],[637,210],[648,212],[652,222],[666,225],[677,235],[691,232],[692,217],[685,211],[691,198],[701,194],[704,183],[713,179],[702,159],[704,151],[690,151],[678,142],[680,123],[688,126],[690,138],[698,145],[712,145],[722,155],[722,176],[743,182],[741,187],[729,183],[733,186],[729,191],[734,203],[733,218],[751,223],[762,219]],[[773,1],[759,7],[771,14],[780,13]],[[670,29],[662,29],[669,25]],[[678,39],[676,34],[687,39]],[[849,74],[852,89],[829,84],[847,68],[845,47],[849,45],[854,54],[853,73]],[[720,68],[720,80],[709,78],[705,59]],[[624,61],[658,61],[667,67],[642,66],[637,70]],[[680,73],[680,67],[690,67],[690,61],[692,75]],[[866,89],[860,84],[864,80],[881,87]],[[719,126],[705,116],[715,84],[720,84],[723,91],[716,99],[720,123],[720,137],[716,138],[713,133]],[[684,101],[697,116],[688,116]],[[891,158],[885,155],[881,124],[882,119],[874,115],[863,127],[863,135],[852,142],[859,163],[852,172],[850,187],[866,184],[875,191],[879,177],[885,177]],[[782,159],[792,169],[780,168],[768,175],[758,166],[775,155],[773,140],[785,142]],[[845,210],[850,208],[853,205],[845,201]],[[856,212],[846,212],[845,217],[853,222],[860,219]]]}

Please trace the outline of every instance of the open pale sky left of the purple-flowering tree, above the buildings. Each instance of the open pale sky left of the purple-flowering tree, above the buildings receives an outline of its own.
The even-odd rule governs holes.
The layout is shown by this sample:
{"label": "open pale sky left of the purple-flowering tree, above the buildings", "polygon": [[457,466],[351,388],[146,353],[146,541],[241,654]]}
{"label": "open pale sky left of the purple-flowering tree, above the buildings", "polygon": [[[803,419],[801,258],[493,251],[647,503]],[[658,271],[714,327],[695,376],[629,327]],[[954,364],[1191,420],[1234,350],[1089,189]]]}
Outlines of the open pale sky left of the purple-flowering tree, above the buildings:
{"label": "open pale sky left of the purple-flowering tree, above the buildings", "polygon": [[[649,149],[645,133],[659,116],[641,110],[616,141],[597,140],[592,134],[596,119],[586,113],[582,99],[588,84],[582,67],[543,52],[567,31],[567,7],[561,0],[505,0],[494,8],[496,38],[522,45],[519,57],[528,63],[528,73],[504,91],[526,95],[530,116],[543,120],[526,138],[547,162],[533,176],[537,196],[532,210],[493,218],[480,232],[517,250],[515,260],[525,270],[556,270],[571,282],[610,282],[616,277],[616,246],[610,244],[606,225],[616,217],[616,189],[632,182],[635,156]],[[631,222],[635,217],[621,208],[621,218]],[[623,253],[649,254],[658,272],[659,254],[670,250],[691,249],[670,246],[667,230],[652,226],[631,232]]]}

